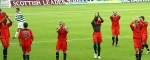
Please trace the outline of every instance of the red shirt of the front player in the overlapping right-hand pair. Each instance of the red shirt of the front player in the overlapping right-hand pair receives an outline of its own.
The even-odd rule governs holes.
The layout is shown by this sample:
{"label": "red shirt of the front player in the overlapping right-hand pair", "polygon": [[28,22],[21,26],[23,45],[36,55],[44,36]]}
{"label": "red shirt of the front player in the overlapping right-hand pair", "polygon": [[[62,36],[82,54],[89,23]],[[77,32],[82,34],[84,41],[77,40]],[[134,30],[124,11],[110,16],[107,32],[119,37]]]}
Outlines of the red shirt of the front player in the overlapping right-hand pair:
{"label": "red shirt of the front player in the overlapping right-hand pair", "polygon": [[141,38],[142,35],[141,35],[141,32],[142,32],[142,28],[140,27],[140,24],[139,24],[139,27],[135,27],[133,26],[134,22],[131,22],[130,24],[130,27],[133,31],[133,38]]}

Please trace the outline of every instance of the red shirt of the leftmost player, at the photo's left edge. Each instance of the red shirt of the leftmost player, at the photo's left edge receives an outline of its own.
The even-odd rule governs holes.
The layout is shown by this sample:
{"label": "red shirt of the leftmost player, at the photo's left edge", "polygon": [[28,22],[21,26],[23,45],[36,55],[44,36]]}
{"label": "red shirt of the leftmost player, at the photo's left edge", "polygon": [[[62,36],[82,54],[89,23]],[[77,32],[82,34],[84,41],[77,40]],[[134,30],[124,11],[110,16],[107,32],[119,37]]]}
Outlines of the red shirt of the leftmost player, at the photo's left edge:
{"label": "red shirt of the leftmost player, at the photo's left edge", "polygon": [[9,27],[11,25],[12,25],[11,23],[7,23],[6,25],[4,25],[4,23],[2,23],[0,25],[0,28],[1,28],[1,38],[10,38]]}

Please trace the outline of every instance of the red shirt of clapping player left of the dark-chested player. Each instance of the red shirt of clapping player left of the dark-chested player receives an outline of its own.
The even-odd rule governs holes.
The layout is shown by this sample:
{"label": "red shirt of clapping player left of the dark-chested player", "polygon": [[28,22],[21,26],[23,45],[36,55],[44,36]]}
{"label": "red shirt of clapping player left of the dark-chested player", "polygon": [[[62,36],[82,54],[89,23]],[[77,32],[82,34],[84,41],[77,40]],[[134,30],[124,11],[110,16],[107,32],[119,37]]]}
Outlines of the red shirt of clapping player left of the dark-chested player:
{"label": "red shirt of clapping player left of the dark-chested player", "polygon": [[60,28],[57,33],[58,33],[57,38],[59,41],[66,41],[67,40],[67,33],[68,32],[65,29]]}

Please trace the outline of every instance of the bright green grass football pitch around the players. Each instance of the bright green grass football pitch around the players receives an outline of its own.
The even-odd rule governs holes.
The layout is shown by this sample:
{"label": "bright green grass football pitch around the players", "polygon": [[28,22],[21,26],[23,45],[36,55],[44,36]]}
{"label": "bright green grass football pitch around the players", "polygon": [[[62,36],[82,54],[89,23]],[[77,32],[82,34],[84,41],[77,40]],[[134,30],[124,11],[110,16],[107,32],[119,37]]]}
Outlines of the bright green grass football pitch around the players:
{"label": "bright green grass football pitch around the players", "polygon": [[[55,45],[57,41],[56,28],[58,23],[64,21],[69,28],[67,60],[98,60],[94,59],[91,21],[96,12],[104,19],[101,31],[103,42],[101,44],[101,60],[135,60],[132,31],[130,22],[135,16],[145,16],[150,22],[150,3],[118,3],[118,4],[86,4],[86,5],[51,5],[51,6],[20,6],[29,29],[33,31],[34,42],[30,53],[30,60],[55,60]],[[4,8],[9,17],[15,17],[15,8]],[[113,10],[121,15],[119,47],[111,46],[111,21],[109,19]],[[12,39],[16,32],[17,22],[10,27],[11,38],[8,49],[8,60],[23,60],[22,50],[18,39]],[[148,30],[150,28],[148,27]],[[149,39],[148,39],[149,40]],[[150,45],[150,42],[148,41]],[[2,60],[3,47],[0,46],[0,59]],[[142,60],[149,60],[150,54],[145,54]],[[60,60],[63,60],[62,51]]]}

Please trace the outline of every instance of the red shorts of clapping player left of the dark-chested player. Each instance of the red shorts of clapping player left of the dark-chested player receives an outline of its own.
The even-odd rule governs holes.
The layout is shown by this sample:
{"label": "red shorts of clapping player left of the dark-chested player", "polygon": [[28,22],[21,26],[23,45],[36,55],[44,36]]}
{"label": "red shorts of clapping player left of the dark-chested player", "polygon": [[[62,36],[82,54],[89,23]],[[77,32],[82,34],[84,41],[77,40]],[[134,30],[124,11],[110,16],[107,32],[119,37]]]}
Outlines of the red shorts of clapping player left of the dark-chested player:
{"label": "red shorts of clapping player left of the dark-chested player", "polygon": [[67,50],[67,41],[57,41],[56,50]]}

